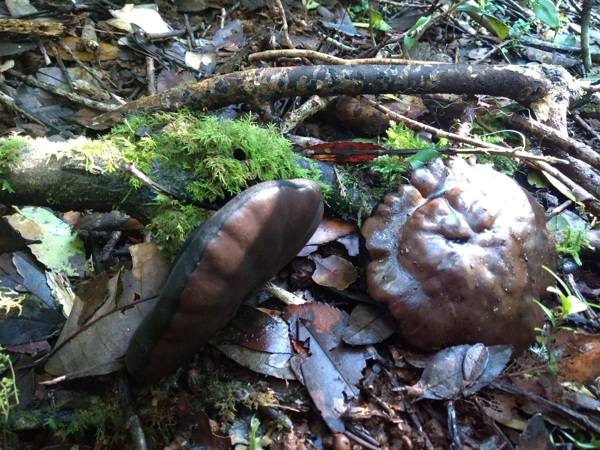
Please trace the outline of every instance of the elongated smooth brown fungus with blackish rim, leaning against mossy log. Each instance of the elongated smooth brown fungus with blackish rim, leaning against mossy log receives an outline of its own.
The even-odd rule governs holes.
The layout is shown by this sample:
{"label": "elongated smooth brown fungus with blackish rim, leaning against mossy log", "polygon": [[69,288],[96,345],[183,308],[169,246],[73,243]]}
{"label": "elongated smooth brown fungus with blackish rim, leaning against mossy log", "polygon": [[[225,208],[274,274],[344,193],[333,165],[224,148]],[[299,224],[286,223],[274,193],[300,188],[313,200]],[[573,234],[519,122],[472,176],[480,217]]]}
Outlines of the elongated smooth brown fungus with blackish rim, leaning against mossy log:
{"label": "elongated smooth brown fungus with blackish rim, leaning against mossy log", "polygon": [[130,373],[153,382],[185,364],[248,293],[302,250],[322,217],[319,185],[306,179],[254,185],[215,212],[182,246],[134,332]]}

